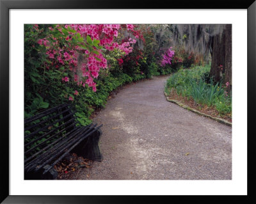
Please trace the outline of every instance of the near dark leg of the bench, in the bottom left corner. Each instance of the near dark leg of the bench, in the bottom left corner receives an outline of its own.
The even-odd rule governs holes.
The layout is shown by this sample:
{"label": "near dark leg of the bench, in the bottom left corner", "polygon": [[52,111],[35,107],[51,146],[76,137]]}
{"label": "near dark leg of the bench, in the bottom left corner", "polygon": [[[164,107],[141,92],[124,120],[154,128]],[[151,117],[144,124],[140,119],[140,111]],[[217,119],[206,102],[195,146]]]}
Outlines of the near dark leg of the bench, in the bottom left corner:
{"label": "near dark leg of the bench, in the bottom left corner", "polygon": [[54,180],[58,177],[58,172],[51,168],[47,173],[43,175],[45,169],[47,169],[49,165],[45,165],[44,168],[39,171],[29,171],[24,173],[24,180]]}

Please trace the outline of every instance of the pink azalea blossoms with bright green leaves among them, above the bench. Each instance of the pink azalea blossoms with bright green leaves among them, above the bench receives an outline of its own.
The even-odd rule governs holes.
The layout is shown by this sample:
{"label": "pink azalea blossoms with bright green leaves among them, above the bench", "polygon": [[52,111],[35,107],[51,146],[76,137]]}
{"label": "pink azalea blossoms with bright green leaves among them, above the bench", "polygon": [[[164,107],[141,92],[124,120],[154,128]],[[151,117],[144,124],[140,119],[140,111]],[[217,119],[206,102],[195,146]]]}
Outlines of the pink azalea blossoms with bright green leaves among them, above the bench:
{"label": "pink azalea blossoms with bright green leaves among them, above the bench", "polygon": [[[124,29],[120,24],[67,24],[49,27],[49,35],[39,39],[38,44],[45,46],[48,62],[45,67],[60,68],[67,66],[65,72],[73,72],[73,81],[77,86],[85,87],[87,84],[96,91],[97,79],[100,69],[108,68],[104,50],[113,51],[119,49],[125,55],[132,52],[132,44],[136,40],[120,45],[117,42],[118,33]],[[126,25],[127,31],[133,31],[132,24]],[[83,56],[83,59],[80,59]],[[79,63],[80,61],[83,63]],[[49,61],[51,63],[49,63]],[[68,73],[70,74],[70,73]],[[69,77],[63,77],[63,82],[70,81]]]}

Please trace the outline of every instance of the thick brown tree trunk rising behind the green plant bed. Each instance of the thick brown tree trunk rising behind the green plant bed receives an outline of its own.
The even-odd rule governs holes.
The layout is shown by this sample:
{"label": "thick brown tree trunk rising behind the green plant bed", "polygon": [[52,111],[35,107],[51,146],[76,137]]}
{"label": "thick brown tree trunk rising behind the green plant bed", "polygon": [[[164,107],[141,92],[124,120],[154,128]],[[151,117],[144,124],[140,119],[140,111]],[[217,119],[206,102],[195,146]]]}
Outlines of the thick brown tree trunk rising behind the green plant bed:
{"label": "thick brown tree trunk rising behind the green plant bed", "polygon": [[225,31],[213,37],[210,75],[214,77],[215,82],[220,82],[223,73],[225,73]]}

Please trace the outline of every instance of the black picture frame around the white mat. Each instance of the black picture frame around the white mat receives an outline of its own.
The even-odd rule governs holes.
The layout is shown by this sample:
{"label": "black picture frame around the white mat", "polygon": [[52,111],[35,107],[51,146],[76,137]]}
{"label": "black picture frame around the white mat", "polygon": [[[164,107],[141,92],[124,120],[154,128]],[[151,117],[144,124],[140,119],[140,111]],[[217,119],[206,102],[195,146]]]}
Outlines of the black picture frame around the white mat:
{"label": "black picture frame around the white mat", "polygon": [[[9,194],[9,10],[10,9],[247,9],[248,19],[248,195],[247,196],[10,196]],[[198,203],[213,201],[214,203],[226,203],[228,201],[239,201],[239,203],[255,203],[255,173],[253,172],[253,161],[255,160],[255,139],[253,115],[255,114],[255,87],[256,87],[256,48],[255,48],[255,27],[256,27],[256,2],[251,1],[104,1],[104,0],[0,0],[0,135],[1,135],[1,197],[3,203],[146,203],[153,201],[158,203],[161,200],[168,201],[189,201]],[[245,110],[244,110],[245,111]],[[254,173],[254,175],[253,175]],[[161,201],[162,202],[162,201]]]}

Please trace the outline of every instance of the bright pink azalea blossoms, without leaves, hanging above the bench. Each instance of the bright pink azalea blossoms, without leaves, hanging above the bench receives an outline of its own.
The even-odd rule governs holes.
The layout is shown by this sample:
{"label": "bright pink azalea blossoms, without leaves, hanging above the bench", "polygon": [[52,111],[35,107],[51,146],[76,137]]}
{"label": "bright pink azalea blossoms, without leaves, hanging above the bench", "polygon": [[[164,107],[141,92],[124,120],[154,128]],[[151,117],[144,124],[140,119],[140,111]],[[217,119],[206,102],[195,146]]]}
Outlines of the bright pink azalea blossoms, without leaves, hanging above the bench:
{"label": "bright pink azalea blossoms, without leaves, hanging above the bench", "polygon": [[[68,30],[68,27],[75,30],[76,32],[68,31],[68,36],[65,37],[68,46],[60,45],[60,39],[54,38],[54,36],[49,35],[48,39],[51,38],[52,45],[49,43],[47,38],[42,38],[38,40],[40,45],[45,45],[47,48],[47,56],[50,61],[52,61],[52,65],[55,68],[59,68],[63,65],[68,65],[69,70],[74,72],[74,81],[77,82],[77,85],[85,86],[88,84],[89,87],[92,87],[93,91],[96,91],[96,83],[93,82],[93,78],[97,78],[99,76],[100,68],[107,68],[107,60],[104,58],[102,51],[95,47],[95,50],[99,54],[95,54],[95,52],[90,52],[86,49],[81,49],[79,46],[71,47],[72,38],[79,33],[81,37],[83,37],[86,42],[86,36],[90,36],[92,40],[99,40],[99,45],[104,47],[109,51],[113,51],[114,49],[120,49],[124,51],[125,54],[129,54],[132,52],[132,44],[136,43],[136,40],[129,38],[128,42],[124,42],[121,45],[118,45],[117,42],[114,42],[115,38],[118,36],[118,31],[122,28],[120,24],[67,24],[64,26],[65,29]],[[57,29],[63,34],[63,27],[61,25],[57,25],[56,27],[49,27],[51,31]],[[132,24],[127,24],[126,29],[129,31],[133,31],[134,26]],[[61,47],[60,47],[61,46]],[[69,48],[68,48],[69,47]],[[70,48],[71,47],[71,48]],[[57,50],[56,50],[57,48]],[[84,53],[85,63],[82,66],[77,67],[77,58],[79,53]],[[49,69],[49,64],[46,67]],[[82,79],[79,79],[79,74],[82,73]],[[68,79],[69,81],[69,79]],[[67,78],[63,78],[63,82],[67,82]]]}

